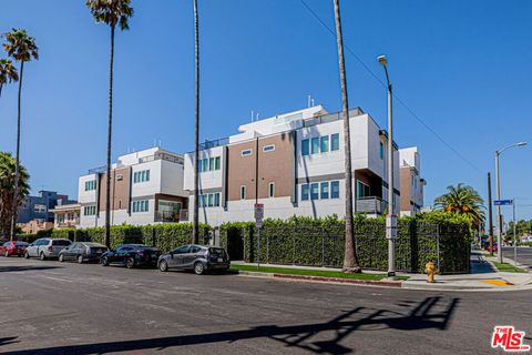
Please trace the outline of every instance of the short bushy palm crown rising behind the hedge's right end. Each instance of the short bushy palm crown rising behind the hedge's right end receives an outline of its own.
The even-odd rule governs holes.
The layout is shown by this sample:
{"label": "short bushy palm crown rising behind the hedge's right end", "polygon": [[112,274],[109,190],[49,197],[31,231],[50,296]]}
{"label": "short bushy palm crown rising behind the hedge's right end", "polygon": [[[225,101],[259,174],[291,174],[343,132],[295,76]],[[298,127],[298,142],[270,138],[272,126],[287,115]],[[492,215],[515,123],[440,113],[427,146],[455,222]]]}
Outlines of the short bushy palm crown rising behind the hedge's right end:
{"label": "short bushy palm crown rising behind the hedge's right end", "polygon": [[447,212],[466,215],[474,229],[478,229],[485,219],[484,200],[471,186],[459,183],[447,186],[447,193],[434,200],[434,205]]}

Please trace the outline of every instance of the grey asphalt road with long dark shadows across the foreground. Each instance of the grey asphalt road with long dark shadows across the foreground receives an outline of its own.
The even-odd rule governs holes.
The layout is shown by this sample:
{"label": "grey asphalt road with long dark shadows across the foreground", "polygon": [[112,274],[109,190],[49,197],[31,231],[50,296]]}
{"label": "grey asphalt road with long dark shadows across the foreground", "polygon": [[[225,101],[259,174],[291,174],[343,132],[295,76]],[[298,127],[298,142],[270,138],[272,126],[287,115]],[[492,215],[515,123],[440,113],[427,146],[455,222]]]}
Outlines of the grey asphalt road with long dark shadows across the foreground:
{"label": "grey asphalt road with long dark shadows across the foreground", "polygon": [[441,293],[0,258],[1,354],[497,354],[530,292]]}

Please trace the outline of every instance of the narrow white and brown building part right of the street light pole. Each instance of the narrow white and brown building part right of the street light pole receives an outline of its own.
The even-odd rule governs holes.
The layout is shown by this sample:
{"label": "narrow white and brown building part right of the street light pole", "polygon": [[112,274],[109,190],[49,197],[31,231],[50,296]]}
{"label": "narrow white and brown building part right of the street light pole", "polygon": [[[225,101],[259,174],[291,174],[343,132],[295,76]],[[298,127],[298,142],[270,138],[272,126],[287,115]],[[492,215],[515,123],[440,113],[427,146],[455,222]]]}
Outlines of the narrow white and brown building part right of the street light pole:
{"label": "narrow white and brown building part right of the street light pole", "polygon": [[423,187],[427,181],[421,178],[421,162],[417,146],[399,150],[401,175],[401,215],[415,215],[423,209]]}

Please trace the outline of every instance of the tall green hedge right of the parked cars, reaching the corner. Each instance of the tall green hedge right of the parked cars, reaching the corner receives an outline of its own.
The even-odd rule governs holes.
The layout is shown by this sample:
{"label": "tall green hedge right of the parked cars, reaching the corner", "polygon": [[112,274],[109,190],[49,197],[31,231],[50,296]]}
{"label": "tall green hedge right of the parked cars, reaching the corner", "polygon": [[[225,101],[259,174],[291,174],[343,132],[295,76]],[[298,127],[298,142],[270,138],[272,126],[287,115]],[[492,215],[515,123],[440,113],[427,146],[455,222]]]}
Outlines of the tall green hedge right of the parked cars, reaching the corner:
{"label": "tall green hedge right of the parked cars, reaching the corner", "polygon": [[[258,231],[254,223],[221,226],[221,244],[232,254],[231,242],[244,240],[244,258],[257,262]],[[355,219],[355,242],[361,267],[388,268],[388,241],[383,217]],[[429,261],[439,262],[441,273],[467,273],[471,230],[467,220],[447,212],[400,219],[396,242],[398,271],[424,271]],[[341,267],[345,222],[336,217],[265,220],[260,230],[260,261],[272,264]],[[438,257],[439,256],[439,257]]]}

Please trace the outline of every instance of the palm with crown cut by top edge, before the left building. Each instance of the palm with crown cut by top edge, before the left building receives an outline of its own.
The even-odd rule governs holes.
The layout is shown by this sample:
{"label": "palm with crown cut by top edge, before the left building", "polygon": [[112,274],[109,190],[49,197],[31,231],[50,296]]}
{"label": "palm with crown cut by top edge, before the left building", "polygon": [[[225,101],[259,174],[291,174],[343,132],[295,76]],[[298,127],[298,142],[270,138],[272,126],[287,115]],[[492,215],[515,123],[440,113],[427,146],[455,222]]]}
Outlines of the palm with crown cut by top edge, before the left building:
{"label": "palm with crown cut by top edge, before the left building", "polygon": [[129,30],[129,18],[133,16],[131,0],[86,0],[86,6],[96,22],[103,22],[111,28],[111,60],[109,65],[109,122],[108,122],[108,160],[105,175],[105,245],[111,245],[111,138],[113,129],[113,61],[114,30]]}

